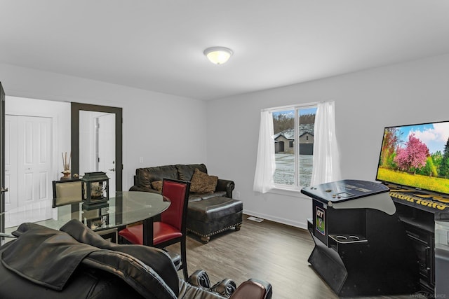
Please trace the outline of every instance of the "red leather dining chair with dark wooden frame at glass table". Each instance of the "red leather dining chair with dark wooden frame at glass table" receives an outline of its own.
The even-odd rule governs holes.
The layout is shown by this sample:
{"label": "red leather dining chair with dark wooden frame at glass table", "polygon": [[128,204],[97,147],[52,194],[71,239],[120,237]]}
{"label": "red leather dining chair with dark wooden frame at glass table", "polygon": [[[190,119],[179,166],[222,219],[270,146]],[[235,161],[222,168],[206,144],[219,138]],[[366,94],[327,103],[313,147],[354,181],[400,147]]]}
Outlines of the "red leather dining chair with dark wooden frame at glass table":
{"label": "red leather dining chair with dark wooden frame at glass table", "polygon": [[[186,218],[189,202],[189,181],[163,179],[162,195],[170,200],[170,207],[162,212],[161,221],[153,223],[153,246],[165,248],[181,243],[181,265],[185,280],[187,274],[186,258]],[[119,235],[130,244],[143,244],[143,224],[133,225],[119,231]]]}

